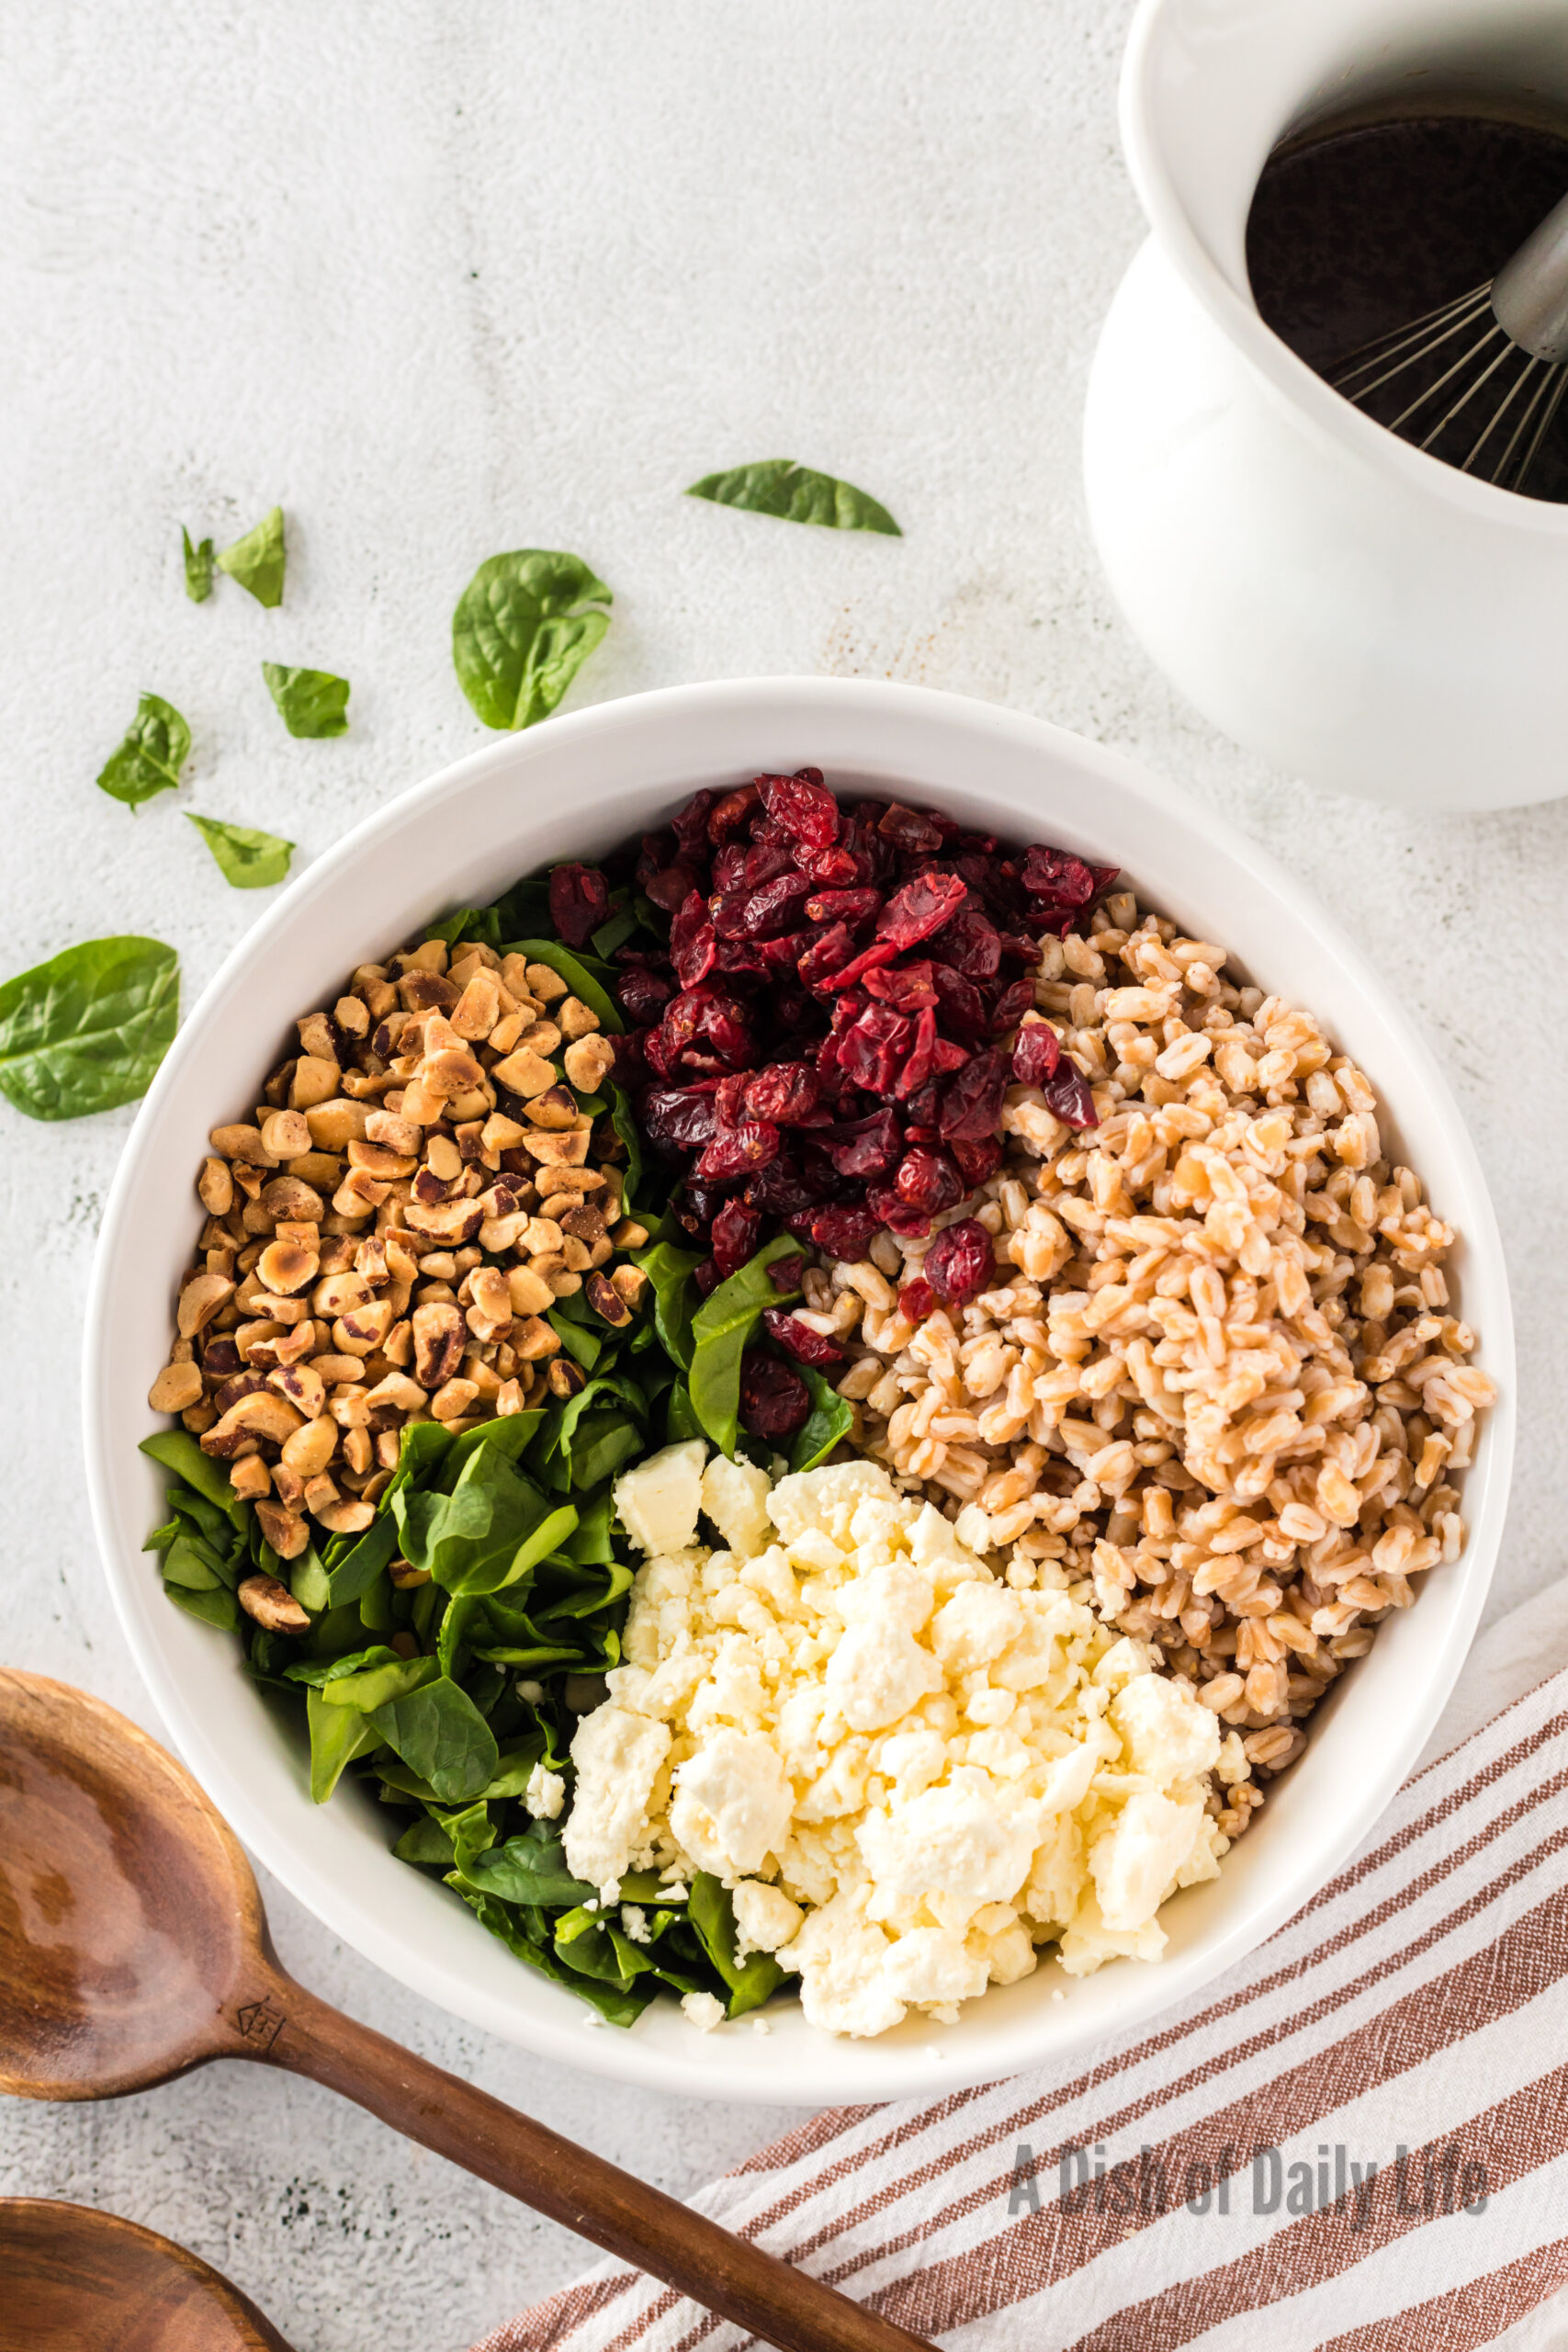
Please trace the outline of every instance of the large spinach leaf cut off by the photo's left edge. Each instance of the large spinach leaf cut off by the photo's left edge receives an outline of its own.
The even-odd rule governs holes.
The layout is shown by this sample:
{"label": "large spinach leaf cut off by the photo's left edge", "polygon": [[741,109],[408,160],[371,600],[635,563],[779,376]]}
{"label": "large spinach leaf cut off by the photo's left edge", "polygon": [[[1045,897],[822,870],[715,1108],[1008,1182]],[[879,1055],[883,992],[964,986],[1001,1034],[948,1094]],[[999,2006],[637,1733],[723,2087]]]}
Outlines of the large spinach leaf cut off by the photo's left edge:
{"label": "large spinach leaf cut off by the photo's left edge", "polygon": [[174,948],[85,938],[0,983],[0,1094],[31,1120],[82,1120],[134,1103],[153,1084],[176,1021]]}

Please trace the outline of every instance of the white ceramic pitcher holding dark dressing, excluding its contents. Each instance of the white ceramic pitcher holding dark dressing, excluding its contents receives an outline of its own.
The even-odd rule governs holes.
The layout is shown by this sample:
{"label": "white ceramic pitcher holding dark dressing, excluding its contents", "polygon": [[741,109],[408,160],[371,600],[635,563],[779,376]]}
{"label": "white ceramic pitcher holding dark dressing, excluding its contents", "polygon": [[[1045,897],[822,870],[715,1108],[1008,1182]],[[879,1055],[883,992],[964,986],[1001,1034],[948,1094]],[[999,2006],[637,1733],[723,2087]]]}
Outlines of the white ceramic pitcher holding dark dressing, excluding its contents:
{"label": "white ceramic pitcher holding dark dressing, excluding its contents", "polygon": [[1246,278],[1269,151],[1427,96],[1568,127],[1568,0],[1143,0],[1121,139],[1152,235],[1084,480],[1126,619],[1206,717],[1342,793],[1495,809],[1568,793],[1568,506],[1349,407]]}

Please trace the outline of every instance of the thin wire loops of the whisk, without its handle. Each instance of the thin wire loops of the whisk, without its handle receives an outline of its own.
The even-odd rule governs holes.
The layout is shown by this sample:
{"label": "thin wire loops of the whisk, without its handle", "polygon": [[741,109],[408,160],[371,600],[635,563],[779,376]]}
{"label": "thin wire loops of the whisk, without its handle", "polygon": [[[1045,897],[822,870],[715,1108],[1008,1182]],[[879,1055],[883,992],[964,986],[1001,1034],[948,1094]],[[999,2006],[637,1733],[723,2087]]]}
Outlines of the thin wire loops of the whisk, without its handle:
{"label": "thin wire loops of the whisk, without its handle", "polygon": [[[1399,388],[1378,409],[1396,407],[1413,390],[1415,397],[1392,416],[1380,414],[1380,423],[1429,452],[1443,435],[1458,440],[1481,421],[1462,454],[1460,447],[1439,454],[1460,473],[1521,489],[1568,390],[1568,369],[1514,343],[1497,325],[1490,294],[1488,278],[1425,318],[1373,336],[1328,372],[1328,383],[1368,414],[1387,386]],[[1488,386],[1493,407],[1483,412],[1474,402]]]}

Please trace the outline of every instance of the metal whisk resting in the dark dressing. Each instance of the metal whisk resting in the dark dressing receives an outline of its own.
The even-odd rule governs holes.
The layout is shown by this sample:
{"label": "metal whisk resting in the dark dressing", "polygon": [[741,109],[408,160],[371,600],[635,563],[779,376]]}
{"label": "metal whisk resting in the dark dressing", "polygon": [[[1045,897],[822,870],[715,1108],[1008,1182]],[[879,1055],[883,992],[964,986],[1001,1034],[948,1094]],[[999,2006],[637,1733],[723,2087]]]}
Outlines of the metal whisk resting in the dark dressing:
{"label": "metal whisk resting in the dark dressing", "polygon": [[1373,414],[1413,393],[1380,414],[1392,433],[1523,489],[1568,390],[1568,195],[1495,278],[1352,350],[1328,383]]}

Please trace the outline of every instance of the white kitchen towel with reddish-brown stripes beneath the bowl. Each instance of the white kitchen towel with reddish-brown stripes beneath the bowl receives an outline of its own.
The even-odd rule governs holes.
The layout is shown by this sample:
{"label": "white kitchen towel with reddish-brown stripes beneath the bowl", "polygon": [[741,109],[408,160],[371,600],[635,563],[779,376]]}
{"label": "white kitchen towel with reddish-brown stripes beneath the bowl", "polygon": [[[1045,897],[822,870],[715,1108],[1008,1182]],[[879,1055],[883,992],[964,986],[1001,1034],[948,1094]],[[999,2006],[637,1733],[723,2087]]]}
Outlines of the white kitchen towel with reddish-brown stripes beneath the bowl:
{"label": "white kitchen towel with reddish-brown stripes beneath the bowl", "polygon": [[[964,2352],[1568,2345],[1568,1672],[1427,1762],[1192,2016],[820,2114],[698,2204]],[[743,2343],[602,2263],[477,2352]]]}

